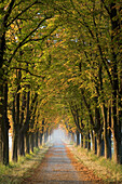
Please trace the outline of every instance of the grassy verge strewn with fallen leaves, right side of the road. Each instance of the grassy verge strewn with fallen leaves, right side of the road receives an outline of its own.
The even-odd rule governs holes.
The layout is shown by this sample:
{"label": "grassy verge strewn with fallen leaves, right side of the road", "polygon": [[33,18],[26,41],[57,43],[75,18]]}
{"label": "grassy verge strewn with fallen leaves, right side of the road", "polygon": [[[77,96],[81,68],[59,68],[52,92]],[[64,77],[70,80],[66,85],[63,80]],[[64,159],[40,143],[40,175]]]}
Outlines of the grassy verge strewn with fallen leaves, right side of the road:
{"label": "grassy verge strewn with fallen leaves, right side of the road", "polygon": [[113,160],[97,157],[93,152],[81,148],[80,146],[69,146],[76,158],[86,166],[90,170],[103,179],[105,183],[122,183],[122,166]]}

